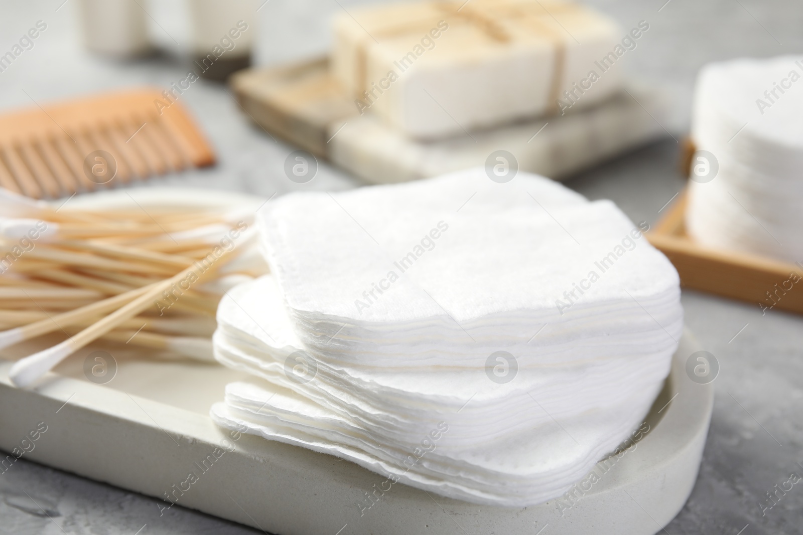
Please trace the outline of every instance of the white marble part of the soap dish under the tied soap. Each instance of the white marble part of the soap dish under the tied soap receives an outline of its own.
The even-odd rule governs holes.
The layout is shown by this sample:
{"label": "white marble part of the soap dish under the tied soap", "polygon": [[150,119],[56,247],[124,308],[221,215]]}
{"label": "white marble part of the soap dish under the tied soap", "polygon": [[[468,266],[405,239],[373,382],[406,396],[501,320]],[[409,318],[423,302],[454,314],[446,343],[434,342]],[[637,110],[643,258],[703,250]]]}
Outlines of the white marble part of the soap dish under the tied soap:
{"label": "white marble part of the soap dish under the tied soap", "polygon": [[561,180],[666,136],[661,126],[669,116],[666,99],[645,87],[628,91],[630,95],[615,95],[565,116],[431,142],[412,140],[365,114],[332,128],[329,157],[363,180],[384,184],[484,165],[492,152],[502,149],[516,158],[520,171]]}

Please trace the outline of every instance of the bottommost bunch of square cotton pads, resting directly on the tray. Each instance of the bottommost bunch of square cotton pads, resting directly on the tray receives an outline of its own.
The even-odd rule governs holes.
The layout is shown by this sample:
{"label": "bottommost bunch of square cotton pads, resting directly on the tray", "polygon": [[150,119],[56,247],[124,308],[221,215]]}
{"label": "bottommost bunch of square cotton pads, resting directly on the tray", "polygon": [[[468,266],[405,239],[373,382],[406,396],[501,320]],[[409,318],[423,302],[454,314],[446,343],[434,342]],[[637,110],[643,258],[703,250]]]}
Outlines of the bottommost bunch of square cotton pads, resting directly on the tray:
{"label": "bottommost bunch of square cotton pads, resting directly on the tray", "polygon": [[[226,391],[226,402],[212,407],[211,415],[218,425],[241,431],[247,428],[248,432],[269,440],[340,456],[383,476],[441,496],[504,507],[526,507],[565,493],[599,459],[618,446],[619,442],[610,440],[610,436],[624,440],[638,427],[643,414],[633,418],[632,407],[645,404],[649,407],[657,394],[648,390],[611,411],[594,411],[548,428],[508,436],[467,451],[460,458],[455,452],[445,452],[439,445],[440,439],[450,432],[446,420],[420,436],[418,443],[407,448],[392,448],[377,443],[365,432],[349,428],[343,419],[334,418],[319,407],[308,407],[315,419],[287,425],[286,420],[263,407],[271,397],[279,398],[274,391],[243,387],[251,385],[234,383]],[[271,399],[270,403],[273,401]],[[259,407],[263,407],[261,411]],[[296,419],[301,407],[304,405],[291,404],[282,407],[284,411],[281,412]],[[533,408],[538,410],[535,403]],[[324,422],[336,422],[342,428],[332,429],[322,425]],[[442,428],[446,428],[446,432],[440,439],[431,438],[432,432]],[[431,453],[427,452],[433,445]]]}

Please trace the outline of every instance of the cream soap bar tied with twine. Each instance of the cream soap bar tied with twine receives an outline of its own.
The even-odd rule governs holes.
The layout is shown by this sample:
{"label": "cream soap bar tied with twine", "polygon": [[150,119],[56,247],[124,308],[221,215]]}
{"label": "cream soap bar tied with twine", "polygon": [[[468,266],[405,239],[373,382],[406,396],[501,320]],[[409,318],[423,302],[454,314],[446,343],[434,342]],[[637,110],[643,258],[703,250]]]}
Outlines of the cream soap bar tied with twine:
{"label": "cream soap bar tied with twine", "polygon": [[[371,6],[338,15],[333,30],[333,74],[355,106],[421,139],[557,111],[564,91],[586,107],[622,87],[609,53],[623,31],[570,2]],[[597,79],[577,91],[590,71]]]}

